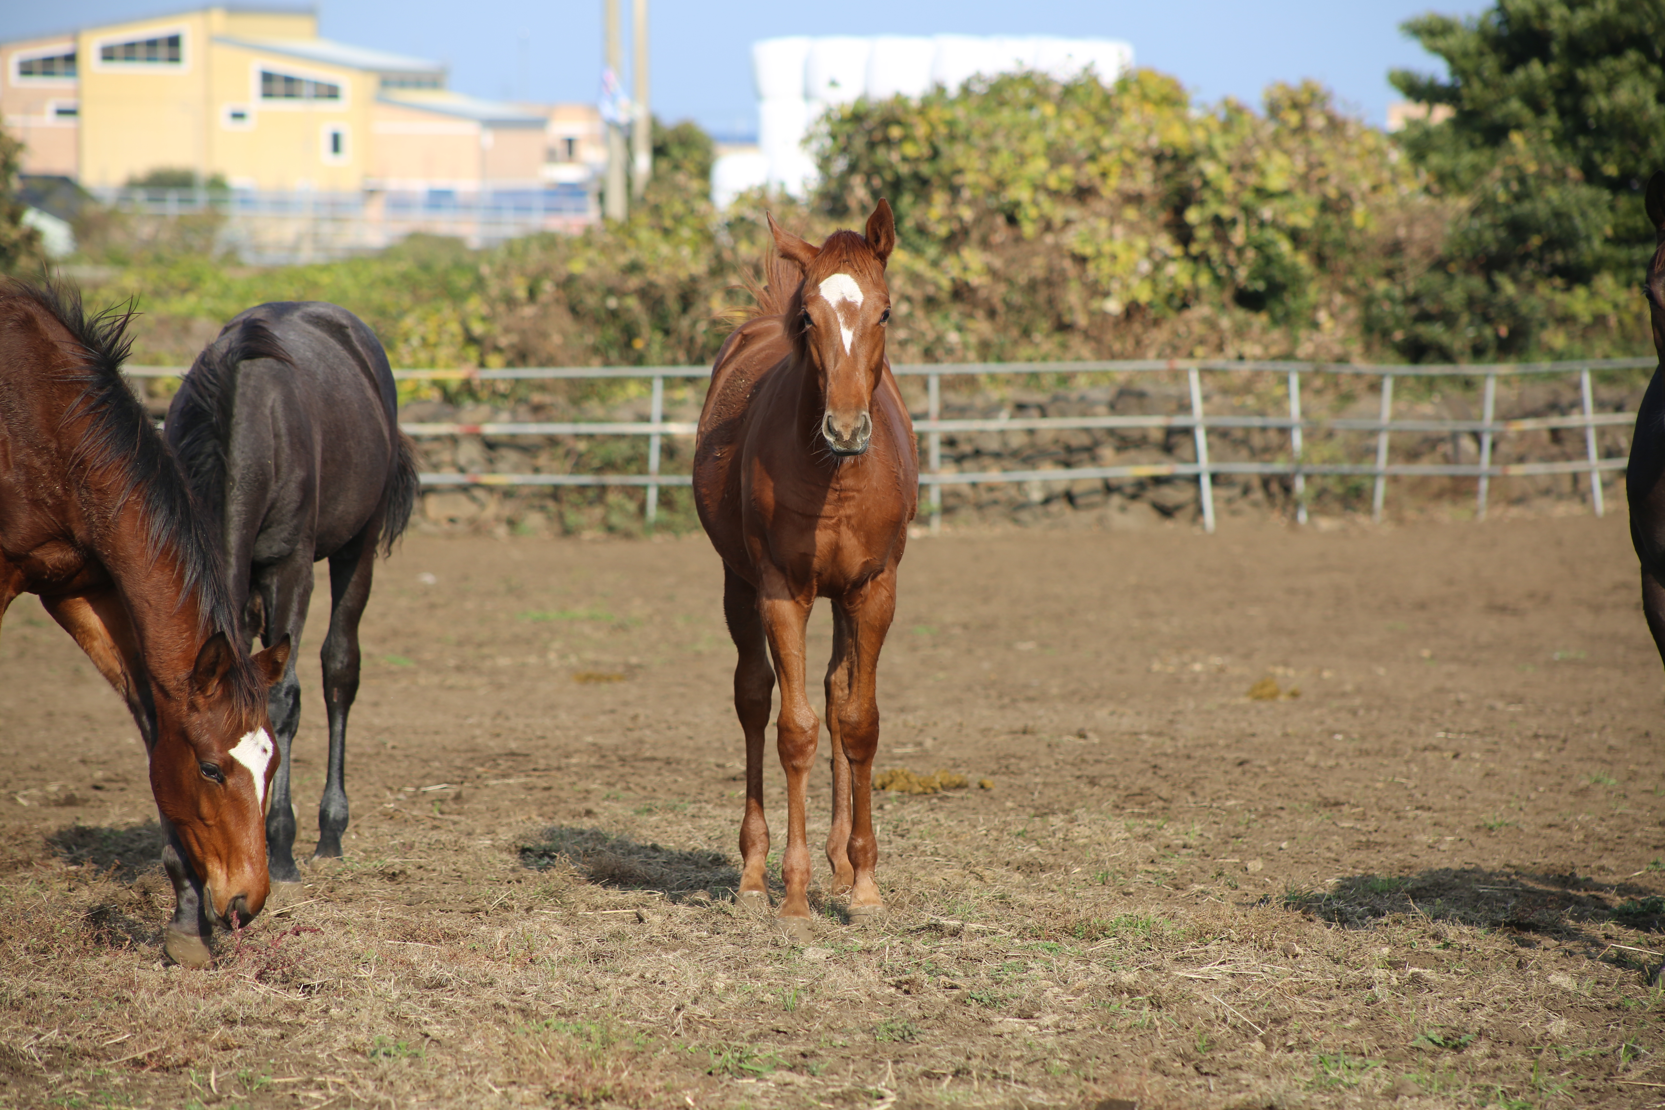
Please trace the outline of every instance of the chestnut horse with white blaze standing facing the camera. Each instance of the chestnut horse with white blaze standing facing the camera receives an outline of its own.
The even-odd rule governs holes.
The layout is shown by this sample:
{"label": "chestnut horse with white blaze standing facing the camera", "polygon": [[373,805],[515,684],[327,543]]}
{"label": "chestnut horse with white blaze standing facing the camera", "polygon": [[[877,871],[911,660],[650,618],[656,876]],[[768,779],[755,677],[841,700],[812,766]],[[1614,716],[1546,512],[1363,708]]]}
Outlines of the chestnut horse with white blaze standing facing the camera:
{"label": "chestnut horse with white blaze standing facing the camera", "polygon": [[[919,501],[919,449],[884,356],[891,318],[884,263],[896,246],[879,201],[866,236],[811,246],[776,226],[778,260],[756,315],[723,343],[694,446],[699,523],[723,556],[723,612],[739,651],[734,709],[746,732],[739,895],[768,904],[763,867],[763,731],[781,679],[776,739],[786,771],[781,919],[809,937],[804,790],[819,722],[804,679],[804,626],[832,602],[828,731],[832,734],[834,894],[852,919],[882,897],[872,869],[872,757],[879,747],[879,649],[896,612],[896,567]],[[774,667],[769,667],[773,656]]]}

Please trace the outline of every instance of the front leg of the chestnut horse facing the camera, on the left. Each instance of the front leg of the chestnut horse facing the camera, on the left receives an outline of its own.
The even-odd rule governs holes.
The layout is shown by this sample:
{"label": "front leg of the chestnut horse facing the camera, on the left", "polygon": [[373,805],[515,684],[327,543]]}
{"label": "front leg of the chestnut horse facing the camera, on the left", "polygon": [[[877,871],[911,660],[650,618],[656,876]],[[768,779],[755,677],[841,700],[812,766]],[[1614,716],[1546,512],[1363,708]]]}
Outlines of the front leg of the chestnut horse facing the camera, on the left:
{"label": "front leg of the chestnut horse facing the camera, on the left", "polygon": [[781,681],[781,716],[776,719],[776,744],[781,752],[781,769],[786,771],[786,854],[781,857],[781,879],[786,882],[786,899],[781,902],[781,919],[788,935],[808,944],[809,932],[809,832],[804,827],[809,771],[816,762],[816,744],[821,739],[821,721],[809,706],[804,682],[804,626],[809,622],[809,606],[814,601],[789,596],[784,582],[764,581],[759,612],[763,629],[769,637],[774,657],[774,674]]}

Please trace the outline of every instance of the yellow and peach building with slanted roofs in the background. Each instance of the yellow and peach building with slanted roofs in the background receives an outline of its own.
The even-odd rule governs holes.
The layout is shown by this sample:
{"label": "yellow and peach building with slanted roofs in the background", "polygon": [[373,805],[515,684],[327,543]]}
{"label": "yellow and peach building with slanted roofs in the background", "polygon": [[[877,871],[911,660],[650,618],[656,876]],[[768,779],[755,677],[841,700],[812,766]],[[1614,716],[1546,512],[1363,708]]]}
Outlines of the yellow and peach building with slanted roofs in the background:
{"label": "yellow and peach building with slanted roofs in the background", "polygon": [[190,170],[253,191],[485,193],[571,186],[598,160],[594,108],[476,100],[445,78],[318,38],[311,10],[211,7],[0,43],[0,118],[25,173],[92,190]]}

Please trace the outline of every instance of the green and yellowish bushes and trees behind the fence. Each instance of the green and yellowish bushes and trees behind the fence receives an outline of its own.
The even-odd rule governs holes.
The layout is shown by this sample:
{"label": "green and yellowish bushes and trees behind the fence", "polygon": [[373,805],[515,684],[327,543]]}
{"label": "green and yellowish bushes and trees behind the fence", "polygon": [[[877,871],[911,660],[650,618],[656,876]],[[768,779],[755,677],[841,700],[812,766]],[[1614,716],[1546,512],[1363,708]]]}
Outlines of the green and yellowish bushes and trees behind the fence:
{"label": "green and yellowish bushes and trees behind the fence", "polygon": [[[216,253],[211,215],[140,233],[90,208],[70,263],[90,301],[145,313],[138,363],[185,364],[243,308],[300,298],[363,316],[395,366],[708,363],[766,250],[766,206],[816,238],[887,196],[894,361],[1638,354],[1662,12],[1502,0],[1414,20],[1449,78],[1394,75],[1434,108],[1395,135],[1310,83],[1252,108],[1197,107],[1151,70],[1109,88],[1021,75],[834,111],[801,205],[718,213],[711,140],[656,123],[646,201],[583,235],[260,270]],[[38,271],[3,138],[0,175],[0,268]]]}

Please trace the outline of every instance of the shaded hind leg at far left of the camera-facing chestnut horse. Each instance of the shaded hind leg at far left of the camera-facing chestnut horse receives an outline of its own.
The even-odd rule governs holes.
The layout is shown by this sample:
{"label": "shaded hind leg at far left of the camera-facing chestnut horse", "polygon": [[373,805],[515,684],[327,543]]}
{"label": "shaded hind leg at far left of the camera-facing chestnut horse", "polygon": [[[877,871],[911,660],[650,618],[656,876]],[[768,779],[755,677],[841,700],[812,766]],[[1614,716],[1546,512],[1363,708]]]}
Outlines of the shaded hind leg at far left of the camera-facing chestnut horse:
{"label": "shaded hind leg at far left of the camera-facing chestnut horse", "polygon": [[763,814],[763,741],[774,701],[774,671],[758,616],[758,591],[728,566],[723,567],[723,616],[734,639],[734,714],[746,734],[746,815],[739,822],[741,902],[769,904],[764,862],[769,859],[769,820]]}

